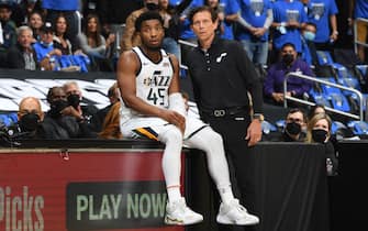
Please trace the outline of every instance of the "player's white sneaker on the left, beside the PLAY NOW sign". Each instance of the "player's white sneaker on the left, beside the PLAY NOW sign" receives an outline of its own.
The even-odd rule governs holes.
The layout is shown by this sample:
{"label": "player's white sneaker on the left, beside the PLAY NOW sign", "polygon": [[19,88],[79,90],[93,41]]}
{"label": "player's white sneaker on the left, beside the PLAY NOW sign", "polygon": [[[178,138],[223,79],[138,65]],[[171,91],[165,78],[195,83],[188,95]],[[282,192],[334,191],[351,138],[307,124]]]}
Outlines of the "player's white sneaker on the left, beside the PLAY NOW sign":
{"label": "player's white sneaker on the left, beside the PLAY NOW sign", "polygon": [[187,226],[201,221],[203,221],[203,216],[187,207],[185,198],[181,197],[178,201],[167,202],[165,216],[166,224]]}

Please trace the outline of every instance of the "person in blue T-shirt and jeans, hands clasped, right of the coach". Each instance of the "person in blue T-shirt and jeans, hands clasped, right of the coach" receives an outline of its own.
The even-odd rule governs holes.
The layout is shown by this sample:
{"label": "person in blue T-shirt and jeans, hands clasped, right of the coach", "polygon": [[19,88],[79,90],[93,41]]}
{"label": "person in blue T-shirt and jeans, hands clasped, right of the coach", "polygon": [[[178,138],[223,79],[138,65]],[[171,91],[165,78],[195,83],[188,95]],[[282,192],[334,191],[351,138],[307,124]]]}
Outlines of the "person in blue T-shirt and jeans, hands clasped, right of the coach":
{"label": "person in blue T-shirt and jeans, hands clasped, right of the coach", "polygon": [[267,64],[268,31],[274,21],[269,0],[239,0],[242,13],[236,38],[242,41],[249,59],[255,64]]}

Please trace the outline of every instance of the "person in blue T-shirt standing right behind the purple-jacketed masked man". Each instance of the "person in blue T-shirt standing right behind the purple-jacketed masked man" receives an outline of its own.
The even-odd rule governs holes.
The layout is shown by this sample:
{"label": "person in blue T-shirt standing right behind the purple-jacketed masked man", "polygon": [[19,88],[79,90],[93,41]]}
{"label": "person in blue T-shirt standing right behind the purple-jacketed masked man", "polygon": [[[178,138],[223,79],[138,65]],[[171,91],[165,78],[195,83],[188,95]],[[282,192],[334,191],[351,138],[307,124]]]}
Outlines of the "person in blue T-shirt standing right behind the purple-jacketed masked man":
{"label": "person in blue T-shirt standing right behind the purple-jacketed masked man", "polygon": [[[292,43],[295,51],[301,53],[300,30],[308,21],[303,4],[300,1],[279,0],[274,3],[274,56],[276,56],[283,44]],[[275,59],[275,57],[274,57]]]}

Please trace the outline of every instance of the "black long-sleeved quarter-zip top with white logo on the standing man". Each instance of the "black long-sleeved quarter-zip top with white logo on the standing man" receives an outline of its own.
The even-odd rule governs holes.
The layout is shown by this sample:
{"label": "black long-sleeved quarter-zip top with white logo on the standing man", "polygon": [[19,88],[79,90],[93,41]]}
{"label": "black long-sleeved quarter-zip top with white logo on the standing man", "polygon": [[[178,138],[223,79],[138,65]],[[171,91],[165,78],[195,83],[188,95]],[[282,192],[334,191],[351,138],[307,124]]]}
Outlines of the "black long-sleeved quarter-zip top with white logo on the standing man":
{"label": "black long-sleeved quarter-zip top with white logo on the standing man", "polygon": [[249,106],[263,113],[263,82],[254,64],[237,41],[216,36],[211,47],[193,48],[187,61],[199,109]]}

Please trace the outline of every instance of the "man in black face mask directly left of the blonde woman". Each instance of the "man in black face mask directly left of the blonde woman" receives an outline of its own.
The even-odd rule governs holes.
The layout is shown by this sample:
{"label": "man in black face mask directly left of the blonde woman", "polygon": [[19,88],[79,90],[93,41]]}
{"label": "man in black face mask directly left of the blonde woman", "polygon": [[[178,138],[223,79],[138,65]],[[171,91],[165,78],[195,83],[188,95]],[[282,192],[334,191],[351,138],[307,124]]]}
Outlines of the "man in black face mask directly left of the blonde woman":
{"label": "man in black face mask directly left of the blonde woman", "polygon": [[306,117],[302,109],[290,109],[285,122],[285,128],[279,139],[280,141],[305,141]]}

